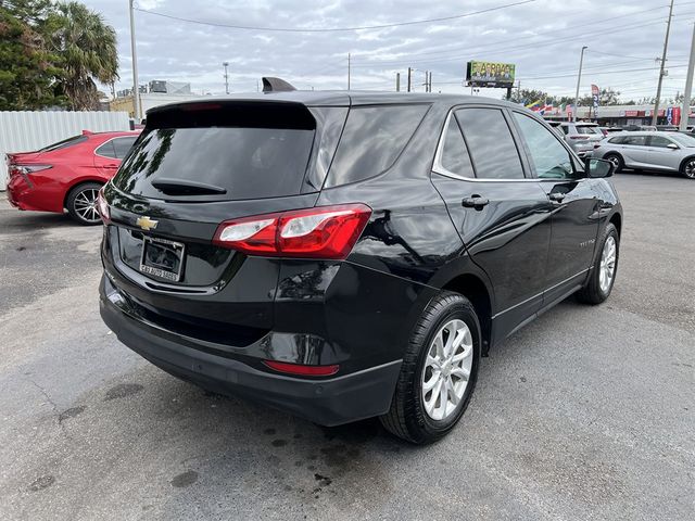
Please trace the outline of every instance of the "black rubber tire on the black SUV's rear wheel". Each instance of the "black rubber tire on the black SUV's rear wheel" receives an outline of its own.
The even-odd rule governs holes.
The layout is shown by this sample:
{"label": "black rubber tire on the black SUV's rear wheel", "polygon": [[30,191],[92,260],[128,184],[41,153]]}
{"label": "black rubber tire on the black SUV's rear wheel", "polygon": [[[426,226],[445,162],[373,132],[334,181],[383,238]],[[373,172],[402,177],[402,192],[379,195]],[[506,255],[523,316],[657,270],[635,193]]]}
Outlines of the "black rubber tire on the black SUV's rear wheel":
{"label": "black rubber tire on the black SUV's rear wheel", "polygon": [[[442,420],[432,419],[422,398],[422,371],[434,335],[452,319],[463,320],[472,338],[472,360],[468,384],[456,408]],[[476,387],[480,365],[480,322],[472,304],[463,295],[442,292],[432,300],[415,326],[401,367],[389,412],[380,417],[383,427],[415,444],[432,443],[446,435],[460,420]]]}

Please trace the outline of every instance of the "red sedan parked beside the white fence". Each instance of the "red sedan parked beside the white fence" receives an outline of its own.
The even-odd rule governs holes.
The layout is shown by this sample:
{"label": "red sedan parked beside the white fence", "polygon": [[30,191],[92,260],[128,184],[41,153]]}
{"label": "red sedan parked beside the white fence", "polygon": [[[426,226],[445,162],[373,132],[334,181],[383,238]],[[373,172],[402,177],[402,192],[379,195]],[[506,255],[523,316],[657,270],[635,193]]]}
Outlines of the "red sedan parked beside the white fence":
{"label": "red sedan parked beside the white fence", "polygon": [[20,209],[63,213],[98,225],[99,189],[111,179],[139,131],[83,131],[37,152],[8,154],[8,199]]}

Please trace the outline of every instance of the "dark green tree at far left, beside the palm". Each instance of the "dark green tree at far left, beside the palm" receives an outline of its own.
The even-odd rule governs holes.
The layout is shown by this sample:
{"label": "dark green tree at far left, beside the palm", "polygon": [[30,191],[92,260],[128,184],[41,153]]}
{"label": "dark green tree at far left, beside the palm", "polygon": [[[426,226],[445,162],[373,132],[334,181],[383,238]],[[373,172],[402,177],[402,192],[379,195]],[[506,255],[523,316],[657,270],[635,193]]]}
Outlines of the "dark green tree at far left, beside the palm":
{"label": "dark green tree at far left, beside the palm", "polygon": [[59,58],[47,49],[49,0],[0,0],[0,111],[60,105]]}

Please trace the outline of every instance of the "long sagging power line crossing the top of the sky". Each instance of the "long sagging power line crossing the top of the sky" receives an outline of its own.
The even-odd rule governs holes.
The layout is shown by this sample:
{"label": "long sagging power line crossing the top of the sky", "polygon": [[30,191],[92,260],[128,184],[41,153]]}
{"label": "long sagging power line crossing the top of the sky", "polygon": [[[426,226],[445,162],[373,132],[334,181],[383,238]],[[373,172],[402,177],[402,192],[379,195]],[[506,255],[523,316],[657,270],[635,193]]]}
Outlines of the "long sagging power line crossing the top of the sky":
{"label": "long sagging power line crossing the top of the sky", "polygon": [[452,16],[440,16],[437,18],[427,18],[427,20],[415,20],[409,22],[399,22],[393,24],[380,24],[380,25],[364,25],[359,27],[331,27],[331,28],[302,28],[302,27],[261,27],[253,25],[232,25],[232,24],[223,24],[218,22],[204,22],[202,20],[193,20],[193,18],[185,18],[182,16],[175,16],[173,14],[160,13],[157,11],[149,11],[140,8],[135,8],[136,11],[141,13],[151,14],[154,16],[162,16],[164,18],[177,20],[179,22],[187,22],[190,24],[199,24],[199,25],[207,25],[211,27],[225,27],[227,29],[242,29],[242,30],[265,30],[265,31],[276,31],[276,33],[345,33],[352,30],[370,30],[370,29],[386,29],[389,27],[402,27],[405,25],[417,25],[417,24],[431,24],[434,22],[446,22],[450,20],[459,20],[466,18],[468,16],[475,16],[477,14],[485,14],[491,13],[493,11],[501,11],[507,8],[514,8],[517,5],[523,5],[527,3],[535,2],[536,0],[521,0],[513,3],[506,3],[504,5],[496,5],[494,8],[482,9],[480,11],[471,11],[469,13],[464,14],[455,14]]}

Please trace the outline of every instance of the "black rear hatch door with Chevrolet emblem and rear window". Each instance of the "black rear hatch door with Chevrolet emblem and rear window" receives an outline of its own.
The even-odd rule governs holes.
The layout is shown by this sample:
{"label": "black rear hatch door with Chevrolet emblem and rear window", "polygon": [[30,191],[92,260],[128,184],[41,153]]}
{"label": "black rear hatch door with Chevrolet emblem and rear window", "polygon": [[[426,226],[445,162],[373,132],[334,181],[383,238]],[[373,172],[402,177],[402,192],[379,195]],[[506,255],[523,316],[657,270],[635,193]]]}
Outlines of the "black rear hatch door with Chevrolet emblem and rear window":
{"label": "black rear hatch door with Chevrolet emblem and rear window", "polygon": [[213,237],[225,220],[314,206],[346,112],[211,101],[148,113],[104,191],[108,271],[168,329],[172,320],[186,331],[271,328],[279,259],[214,245]]}

